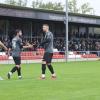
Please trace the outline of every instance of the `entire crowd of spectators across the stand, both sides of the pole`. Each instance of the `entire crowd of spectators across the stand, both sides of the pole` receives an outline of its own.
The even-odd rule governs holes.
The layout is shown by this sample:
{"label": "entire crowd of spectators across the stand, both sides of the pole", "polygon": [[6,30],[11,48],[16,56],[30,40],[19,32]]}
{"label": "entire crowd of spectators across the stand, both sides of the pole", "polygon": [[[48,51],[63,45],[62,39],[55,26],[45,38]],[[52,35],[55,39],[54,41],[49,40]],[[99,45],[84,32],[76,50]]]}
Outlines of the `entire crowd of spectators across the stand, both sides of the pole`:
{"label": "entire crowd of spectators across the stand, both sides of the pole", "polygon": [[[9,38],[0,38],[0,40],[8,46],[11,42]],[[34,37],[32,39],[23,39],[23,44],[32,44],[33,49],[27,49],[30,51],[36,51],[38,45],[40,44],[42,38]],[[54,38],[54,48],[58,51],[65,50],[65,37],[55,37]],[[100,35],[99,34],[78,34],[74,33],[72,36],[69,35],[68,47],[70,51],[100,51]],[[2,51],[2,49],[0,49]]]}

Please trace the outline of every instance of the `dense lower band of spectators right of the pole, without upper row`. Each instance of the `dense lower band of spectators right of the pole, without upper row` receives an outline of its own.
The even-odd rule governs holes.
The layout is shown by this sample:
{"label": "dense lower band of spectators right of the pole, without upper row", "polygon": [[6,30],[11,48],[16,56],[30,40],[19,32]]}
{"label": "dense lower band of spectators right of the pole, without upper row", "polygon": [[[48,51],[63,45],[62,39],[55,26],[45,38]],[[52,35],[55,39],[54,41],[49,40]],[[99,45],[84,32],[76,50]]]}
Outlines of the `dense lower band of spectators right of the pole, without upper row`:
{"label": "dense lower band of spectators right of the pole, without upper row", "polygon": [[70,51],[99,51],[100,40],[96,39],[72,39],[69,41]]}

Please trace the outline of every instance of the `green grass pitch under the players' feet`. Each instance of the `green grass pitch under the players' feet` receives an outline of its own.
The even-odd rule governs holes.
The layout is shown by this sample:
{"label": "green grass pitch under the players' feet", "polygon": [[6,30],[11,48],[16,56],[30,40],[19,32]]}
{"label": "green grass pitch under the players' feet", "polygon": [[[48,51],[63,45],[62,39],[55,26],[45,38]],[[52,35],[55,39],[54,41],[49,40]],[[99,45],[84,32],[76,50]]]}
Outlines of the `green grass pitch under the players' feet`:
{"label": "green grass pitch under the players' feet", "polygon": [[0,65],[0,100],[100,100],[100,62],[54,63],[57,80],[39,80],[40,64],[22,65],[23,79],[6,74],[13,65]]}

